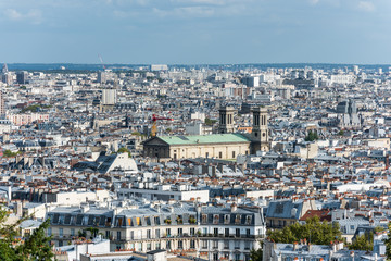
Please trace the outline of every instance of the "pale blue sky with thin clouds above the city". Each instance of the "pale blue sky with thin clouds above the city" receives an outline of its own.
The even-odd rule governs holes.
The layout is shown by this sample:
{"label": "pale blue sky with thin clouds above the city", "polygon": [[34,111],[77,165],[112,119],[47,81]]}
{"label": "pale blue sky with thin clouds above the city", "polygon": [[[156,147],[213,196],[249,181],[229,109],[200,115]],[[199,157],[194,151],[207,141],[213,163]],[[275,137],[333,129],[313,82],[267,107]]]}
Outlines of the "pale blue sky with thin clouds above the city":
{"label": "pale blue sky with thin clouds above the city", "polygon": [[391,63],[391,0],[0,0],[0,62]]}

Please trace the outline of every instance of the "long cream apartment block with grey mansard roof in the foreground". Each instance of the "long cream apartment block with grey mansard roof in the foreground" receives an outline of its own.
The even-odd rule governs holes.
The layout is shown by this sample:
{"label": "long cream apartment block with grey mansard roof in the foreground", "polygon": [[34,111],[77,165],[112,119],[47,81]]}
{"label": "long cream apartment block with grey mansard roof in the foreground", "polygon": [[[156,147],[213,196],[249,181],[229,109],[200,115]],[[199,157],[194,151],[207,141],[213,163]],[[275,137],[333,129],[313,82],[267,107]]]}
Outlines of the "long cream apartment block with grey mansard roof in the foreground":
{"label": "long cream apartment block with grey mansard roof in the foreground", "polygon": [[181,204],[123,210],[59,207],[48,217],[51,226],[47,233],[58,247],[66,245],[79,232],[89,237],[86,229],[96,227],[111,239],[112,251],[166,249],[207,260],[250,260],[250,250],[258,249],[258,239],[265,235],[261,213],[236,206]]}

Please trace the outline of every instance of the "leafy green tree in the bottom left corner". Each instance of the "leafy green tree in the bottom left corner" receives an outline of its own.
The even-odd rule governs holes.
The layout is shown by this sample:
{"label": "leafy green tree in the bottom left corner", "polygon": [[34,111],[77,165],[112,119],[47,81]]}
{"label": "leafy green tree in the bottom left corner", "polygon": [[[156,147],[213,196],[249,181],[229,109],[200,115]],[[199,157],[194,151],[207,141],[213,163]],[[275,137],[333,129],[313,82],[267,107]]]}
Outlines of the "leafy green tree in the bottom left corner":
{"label": "leafy green tree in the bottom left corner", "polygon": [[54,257],[49,245],[51,237],[45,235],[45,231],[50,226],[50,220],[45,221],[33,234],[20,239],[17,226],[27,217],[18,220],[13,224],[5,224],[9,214],[3,208],[0,209],[0,257],[1,260],[52,260]]}

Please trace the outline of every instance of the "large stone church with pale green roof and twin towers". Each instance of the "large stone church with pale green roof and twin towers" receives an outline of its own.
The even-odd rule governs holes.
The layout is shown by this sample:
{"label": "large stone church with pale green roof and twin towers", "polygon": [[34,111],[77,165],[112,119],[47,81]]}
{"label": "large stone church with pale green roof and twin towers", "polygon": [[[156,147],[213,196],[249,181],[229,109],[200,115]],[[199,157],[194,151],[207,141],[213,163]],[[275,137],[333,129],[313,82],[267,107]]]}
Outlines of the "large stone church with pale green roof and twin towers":
{"label": "large stone church with pale green roof and twin towers", "polygon": [[236,159],[238,154],[255,154],[269,150],[267,109],[252,109],[253,128],[251,134],[235,133],[235,109],[219,109],[218,134],[156,136],[143,142],[143,156],[160,160],[194,158]]}

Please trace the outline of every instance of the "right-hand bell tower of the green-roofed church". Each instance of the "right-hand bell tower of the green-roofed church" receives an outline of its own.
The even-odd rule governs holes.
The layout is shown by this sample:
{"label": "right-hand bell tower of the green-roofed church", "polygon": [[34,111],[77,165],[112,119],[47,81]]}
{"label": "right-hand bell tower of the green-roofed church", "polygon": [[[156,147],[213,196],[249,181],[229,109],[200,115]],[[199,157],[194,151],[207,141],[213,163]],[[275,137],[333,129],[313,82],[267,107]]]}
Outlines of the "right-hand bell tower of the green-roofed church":
{"label": "right-hand bell tower of the green-roofed church", "polygon": [[[268,151],[268,125],[267,125],[267,109],[255,107],[252,109],[253,112],[253,129],[251,133],[253,141],[255,141],[254,149]],[[256,144],[260,144],[258,146]]]}

